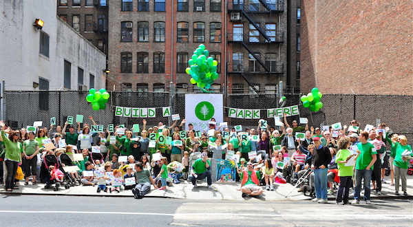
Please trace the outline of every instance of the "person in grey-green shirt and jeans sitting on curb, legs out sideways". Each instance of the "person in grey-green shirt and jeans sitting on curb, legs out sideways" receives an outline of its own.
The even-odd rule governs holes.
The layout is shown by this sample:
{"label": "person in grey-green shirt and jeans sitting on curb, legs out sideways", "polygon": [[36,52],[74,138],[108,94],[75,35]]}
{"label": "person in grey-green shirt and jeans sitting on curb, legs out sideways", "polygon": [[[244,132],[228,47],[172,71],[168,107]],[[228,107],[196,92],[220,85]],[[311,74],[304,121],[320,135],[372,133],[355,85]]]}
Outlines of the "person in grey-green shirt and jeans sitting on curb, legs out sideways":
{"label": "person in grey-green shirt and jeans sitting on curb, legs out sideways", "polygon": [[148,169],[143,169],[142,162],[135,163],[135,180],[136,186],[132,189],[135,199],[142,199],[146,193],[151,189],[151,184],[156,189],[155,181]]}

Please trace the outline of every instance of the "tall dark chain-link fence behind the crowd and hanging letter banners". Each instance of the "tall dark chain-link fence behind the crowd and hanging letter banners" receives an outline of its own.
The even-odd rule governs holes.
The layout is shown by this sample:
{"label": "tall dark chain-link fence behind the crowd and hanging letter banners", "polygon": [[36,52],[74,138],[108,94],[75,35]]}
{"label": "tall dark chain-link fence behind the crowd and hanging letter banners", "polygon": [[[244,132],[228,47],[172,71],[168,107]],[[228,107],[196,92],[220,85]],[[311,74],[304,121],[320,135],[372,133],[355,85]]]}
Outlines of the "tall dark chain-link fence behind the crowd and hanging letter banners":
{"label": "tall dark chain-link fence behind the crowd and hanging letter banners", "polygon": [[[115,106],[120,107],[168,107],[173,108],[173,114],[185,118],[185,94],[175,94],[170,98],[168,92],[127,92],[110,91],[111,97],[104,110],[93,111],[86,102],[87,91],[6,91],[6,123],[13,129],[32,125],[34,121],[43,121],[43,126],[49,124],[51,117],[56,117],[58,125],[63,125],[67,116],[82,114],[93,116],[98,124],[125,124],[131,127],[142,124],[142,118],[115,117]],[[284,106],[300,103],[301,94],[285,94]],[[226,107],[240,109],[262,109],[261,118],[266,118],[266,109],[278,107],[279,97],[275,94],[233,94],[224,103]],[[360,122],[361,129],[366,124],[377,125],[386,123],[397,133],[407,136],[409,144],[413,142],[413,96],[385,95],[344,95],[324,94],[321,98],[324,107],[317,113],[310,113],[307,108],[299,105],[299,116],[288,118],[288,122],[308,118],[309,125],[319,127],[341,122],[348,125],[350,120]],[[224,118],[228,116],[228,108],[224,108]],[[158,125],[158,122],[170,124],[170,118],[162,117],[162,109],[156,108],[156,118],[146,118],[148,127]],[[228,118],[229,125],[242,125],[244,128],[257,127],[257,120]],[[85,120],[87,122],[87,120]],[[268,119],[268,124],[274,125],[274,119]]]}

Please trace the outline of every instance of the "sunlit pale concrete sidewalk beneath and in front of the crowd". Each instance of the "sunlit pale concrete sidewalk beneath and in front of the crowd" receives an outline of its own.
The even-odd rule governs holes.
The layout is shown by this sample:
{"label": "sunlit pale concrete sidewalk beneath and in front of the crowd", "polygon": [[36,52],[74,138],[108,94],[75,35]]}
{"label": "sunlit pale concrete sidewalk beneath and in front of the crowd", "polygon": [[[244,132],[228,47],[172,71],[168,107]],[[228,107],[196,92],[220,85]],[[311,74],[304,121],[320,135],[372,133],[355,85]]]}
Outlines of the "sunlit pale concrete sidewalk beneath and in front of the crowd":
{"label": "sunlit pale concrete sidewalk beneath and in front of the crowd", "polygon": [[[390,182],[390,177],[385,178],[387,182]],[[96,193],[97,186],[74,186],[69,189],[65,189],[63,186],[59,187],[59,191],[53,191],[53,188],[44,188],[44,184],[38,183],[36,185],[21,185],[19,189],[14,189],[12,194],[17,195],[78,195],[78,196],[123,196],[123,197],[133,197],[130,190],[120,191],[120,193],[105,193],[101,191]],[[145,196],[147,197],[165,197],[165,198],[176,198],[176,199],[204,199],[204,200],[235,200],[235,201],[244,201],[248,199],[260,199],[263,201],[299,201],[311,199],[309,196],[303,195],[303,193],[297,192],[298,188],[293,189],[291,184],[274,184],[275,191],[264,191],[260,197],[257,198],[243,198],[241,197],[241,192],[236,189],[240,187],[239,183],[213,183],[213,189],[207,188],[207,183],[198,184],[198,188],[193,188],[191,183],[186,181],[181,182],[180,184],[173,184],[173,186],[168,187],[167,191],[153,190]],[[264,186],[263,186],[264,188]],[[293,191],[286,197],[286,195],[293,189]],[[401,187],[400,187],[401,190]],[[396,196],[394,195],[394,186],[390,184],[382,184],[383,195],[377,195],[375,191],[372,191],[371,197],[372,201],[374,199],[413,199],[413,177],[407,175],[407,197],[403,195]],[[9,194],[5,191],[3,186],[0,189],[0,193],[5,195]],[[403,194],[403,191],[399,191]],[[352,197],[352,195],[350,195]],[[335,195],[329,195],[329,200],[334,200]]]}

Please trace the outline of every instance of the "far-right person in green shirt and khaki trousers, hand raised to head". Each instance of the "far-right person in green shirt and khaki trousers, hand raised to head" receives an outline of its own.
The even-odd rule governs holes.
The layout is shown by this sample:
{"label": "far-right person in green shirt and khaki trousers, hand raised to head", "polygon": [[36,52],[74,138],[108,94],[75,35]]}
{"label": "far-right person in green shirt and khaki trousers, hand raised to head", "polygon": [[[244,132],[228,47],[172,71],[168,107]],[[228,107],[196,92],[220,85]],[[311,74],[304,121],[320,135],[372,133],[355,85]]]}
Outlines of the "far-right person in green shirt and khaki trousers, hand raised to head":
{"label": "far-right person in green shirt and khaki trousers, hand raised to head", "polygon": [[406,191],[406,174],[408,168],[408,160],[413,159],[412,147],[407,144],[407,138],[403,135],[393,137],[392,142],[396,149],[396,155],[394,156],[394,189],[395,195],[399,195],[399,179],[401,178],[401,190],[403,195],[407,195]]}

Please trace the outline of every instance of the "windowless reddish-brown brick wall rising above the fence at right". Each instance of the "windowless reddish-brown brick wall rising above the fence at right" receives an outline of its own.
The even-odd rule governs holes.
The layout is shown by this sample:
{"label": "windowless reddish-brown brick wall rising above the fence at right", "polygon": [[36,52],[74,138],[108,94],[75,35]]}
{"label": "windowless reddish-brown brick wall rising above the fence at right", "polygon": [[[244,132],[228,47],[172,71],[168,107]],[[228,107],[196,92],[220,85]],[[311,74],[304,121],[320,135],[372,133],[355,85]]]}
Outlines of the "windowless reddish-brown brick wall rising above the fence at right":
{"label": "windowless reddish-brown brick wall rising above the fence at right", "polygon": [[413,94],[412,1],[301,1],[301,91]]}

